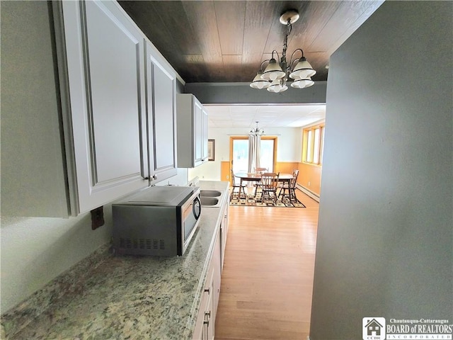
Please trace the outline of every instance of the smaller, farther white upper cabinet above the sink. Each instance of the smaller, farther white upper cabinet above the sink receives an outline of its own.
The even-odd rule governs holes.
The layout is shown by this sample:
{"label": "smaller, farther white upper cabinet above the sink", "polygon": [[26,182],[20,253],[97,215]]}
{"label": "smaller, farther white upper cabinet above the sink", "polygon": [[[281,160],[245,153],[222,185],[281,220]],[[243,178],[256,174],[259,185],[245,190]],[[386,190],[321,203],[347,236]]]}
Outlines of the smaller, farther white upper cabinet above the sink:
{"label": "smaller, farther white upper cabinet above the sink", "polygon": [[193,168],[207,162],[207,111],[193,94],[176,97],[178,167]]}

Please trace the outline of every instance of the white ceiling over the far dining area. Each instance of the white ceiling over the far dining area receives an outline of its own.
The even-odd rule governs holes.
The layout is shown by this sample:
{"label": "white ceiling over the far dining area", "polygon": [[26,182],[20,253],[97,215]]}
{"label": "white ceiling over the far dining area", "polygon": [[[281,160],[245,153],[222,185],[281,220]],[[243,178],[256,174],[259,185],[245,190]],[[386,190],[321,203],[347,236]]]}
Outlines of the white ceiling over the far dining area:
{"label": "white ceiling over the far dining area", "polygon": [[326,105],[205,105],[210,128],[299,128],[326,118]]}

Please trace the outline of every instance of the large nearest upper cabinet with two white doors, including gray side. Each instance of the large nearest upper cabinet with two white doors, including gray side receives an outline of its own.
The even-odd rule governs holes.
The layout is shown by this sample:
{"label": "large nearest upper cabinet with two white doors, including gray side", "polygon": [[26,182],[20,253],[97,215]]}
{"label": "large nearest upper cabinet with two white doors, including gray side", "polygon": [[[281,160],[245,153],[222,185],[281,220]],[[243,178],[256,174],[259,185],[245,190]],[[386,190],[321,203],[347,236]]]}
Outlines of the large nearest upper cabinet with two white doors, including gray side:
{"label": "large nearest upper cabinet with two white doors, including gray side", "polygon": [[2,30],[2,215],[75,216],[176,175],[176,72],[116,1],[11,1]]}

